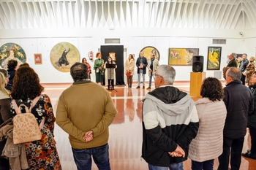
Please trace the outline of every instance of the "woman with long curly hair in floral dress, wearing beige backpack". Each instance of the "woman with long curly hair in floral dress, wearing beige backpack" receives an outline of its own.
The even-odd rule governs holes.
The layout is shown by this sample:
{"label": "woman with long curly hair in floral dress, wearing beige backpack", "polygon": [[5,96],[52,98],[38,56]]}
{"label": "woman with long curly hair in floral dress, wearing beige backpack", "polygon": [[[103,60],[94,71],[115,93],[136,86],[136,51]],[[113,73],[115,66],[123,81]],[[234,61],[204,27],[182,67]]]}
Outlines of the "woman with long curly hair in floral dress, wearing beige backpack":
{"label": "woman with long curly hair in floral dress, wearing beige backpack", "polygon": [[[61,163],[53,138],[55,122],[53,107],[49,96],[42,94],[43,90],[44,88],[39,84],[39,77],[34,69],[29,66],[22,66],[16,71],[12,85],[12,98],[15,99],[18,106],[25,104],[29,108],[34,98],[39,96],[39,100],[31,109],[31,113],[36,117],[38,125],[45,120],[41,129],[42,139],[25,143],[29,169],[60,170]],[[20,110],[21,112],[25,111],[25,109]],[[13,104],[11,104],[11,112],[13,116],[16,115]]]}

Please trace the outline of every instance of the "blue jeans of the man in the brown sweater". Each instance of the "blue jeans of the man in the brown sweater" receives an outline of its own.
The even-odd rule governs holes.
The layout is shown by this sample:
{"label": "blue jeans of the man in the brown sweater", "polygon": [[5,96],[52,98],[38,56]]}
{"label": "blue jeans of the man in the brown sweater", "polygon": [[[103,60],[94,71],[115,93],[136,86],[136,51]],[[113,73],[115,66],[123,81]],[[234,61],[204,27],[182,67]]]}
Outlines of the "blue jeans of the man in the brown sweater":
{"label": "blue jeans of the man in the brown sweater", "polygon": [[108,144],[89,149],[72,148],[72,152],[78,170],[91,170],[91,155],[99,170],[110,170]]}

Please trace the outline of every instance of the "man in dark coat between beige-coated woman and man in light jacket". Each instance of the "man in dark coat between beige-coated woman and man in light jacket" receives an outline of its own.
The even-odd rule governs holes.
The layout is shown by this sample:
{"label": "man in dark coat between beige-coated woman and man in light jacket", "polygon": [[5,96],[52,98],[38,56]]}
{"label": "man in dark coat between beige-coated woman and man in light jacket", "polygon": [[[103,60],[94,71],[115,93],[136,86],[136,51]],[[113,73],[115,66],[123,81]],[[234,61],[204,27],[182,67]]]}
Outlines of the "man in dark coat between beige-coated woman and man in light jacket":
{"label": "man in dark coat between beige-coated woman and man in light jacket", "polygon": [[140,57],[136,61],[136,66],[138,67],[137,73],[138,73],[138,87],[140,88],[140,74],[142,74],[143,78],[143,88],[145,88],[145,74],[146,74],[146,68],[148,66],[147,58],[143,56],[144,53],[140,51]]}

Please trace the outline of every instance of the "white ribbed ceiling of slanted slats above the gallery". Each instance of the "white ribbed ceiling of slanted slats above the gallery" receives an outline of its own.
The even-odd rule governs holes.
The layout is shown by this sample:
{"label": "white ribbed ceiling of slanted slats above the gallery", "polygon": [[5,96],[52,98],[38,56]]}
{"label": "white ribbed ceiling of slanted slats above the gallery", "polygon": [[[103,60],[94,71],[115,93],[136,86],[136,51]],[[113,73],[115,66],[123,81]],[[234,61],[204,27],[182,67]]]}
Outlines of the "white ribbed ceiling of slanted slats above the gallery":
{"label": "white ribbed ceiling of slanted slats above the gallery", "polygon": [[0,0],[0,28],[256,28],[256,0]]}

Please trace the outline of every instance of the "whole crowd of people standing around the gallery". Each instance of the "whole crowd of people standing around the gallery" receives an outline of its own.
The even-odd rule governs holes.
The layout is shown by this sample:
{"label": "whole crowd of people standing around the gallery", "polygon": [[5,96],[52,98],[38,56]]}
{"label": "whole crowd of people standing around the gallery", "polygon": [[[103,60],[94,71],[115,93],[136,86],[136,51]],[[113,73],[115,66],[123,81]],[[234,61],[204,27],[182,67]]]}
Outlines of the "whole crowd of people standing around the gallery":
{"label": "whole crowd of people standing around the gallery", "polygon": [[[240,61],[235,53],[228,55],[230,61],[223,69],[226,87],[222,88],[217,78],[207,77],[200,88],[201,98],[193,101],[188,93],[173,86],[176,70],[172,66],[159,65],[154,53],[149,60],[143,55],[140,52],[135,62],[134,55],[130,54],[124,68],[128,88],[132,88],[135,66],[137,88],[140,88],[141,75],[145,88],[146,69],[149,76],[147,89],[151,89],[154,78],[155,89],[143,98],[142,107],[142,158],[148,163],[149,170],[182,170],[183,161],[187,158],[192,161],[192,170],[212,170],[215,158],[219,160],[218,170],[227,170],[229,164],[232,170],[238,170],[241,155],[256,159],[254,57],[247,60],[244,54]],[[71,66],[73,83],[61,93],[56,117],[50,97],[42,93],[44,88],[39,76],[28,63],[18,66],[17,61],[10,60],[7,70],[0,69],[0,125],[18,114],[12,102],[30,107],[34,98],[39,97],[31,113],[38,124],[43,123],[42,139],[24,144],[28,169],[61,169],[53,134],[55,122],[69,134],[78,170],[91,169],[91,158],[98,169],[110,169],[108,128],[117,110],[108,90],[114,89],[117,66],[110,56],[106,62],[101,53],[96,56],[93,67],[96,83],[91,81],[92,68],[86,58]],[[102,87],[104,75],[108,90]],[[90,98],[87,104],[78,104],[85,96]],[[20,111],[26,110],[21,107]],[[3,127],[0,128],[0,139],[3,139],[0,152],[7,144],[2,136]],[[242,153],[247,131],[251,146]],[[13,167],[6,156],[0,157],[0,170],[16,169]]]}

